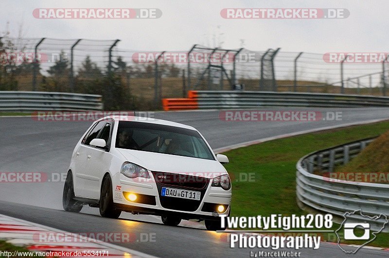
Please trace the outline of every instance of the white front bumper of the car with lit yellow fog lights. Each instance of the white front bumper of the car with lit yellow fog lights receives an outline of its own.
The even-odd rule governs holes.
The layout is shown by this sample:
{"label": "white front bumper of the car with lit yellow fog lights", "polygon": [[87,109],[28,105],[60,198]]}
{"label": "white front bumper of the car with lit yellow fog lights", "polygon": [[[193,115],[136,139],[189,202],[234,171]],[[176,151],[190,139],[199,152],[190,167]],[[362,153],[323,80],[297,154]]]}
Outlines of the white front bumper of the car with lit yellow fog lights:
{"label": "white front bumper of the car with lit yellow fog lights", "polygon": [[[135,214],[171,215],[182,219],[217,220],[220,214],[227,215],[230,213],[231,189],[224,190],[220,187],[212,187],[211,182],[212,179],[209,179],[203,189],[191,189],[160,184],[153,177],[150,179],[130,179],[121,173],[117,173],[112,178],[113,201],[116,208]],[[195,201],[163,197],[161,196],[162,187],[200,191],[201,199]],[[139,203],[138,200],[131,202],[125,198],[124,193],[134,193],[142,195],[142,197],[144,195],[146,198],[140,198],[140,200],[147,201],[143,203]],[[155,202],[150,202],[154,198]],[[212,205],[223,205],[226,208],[224,212],[219,213],[210,210],[209,207]]]}

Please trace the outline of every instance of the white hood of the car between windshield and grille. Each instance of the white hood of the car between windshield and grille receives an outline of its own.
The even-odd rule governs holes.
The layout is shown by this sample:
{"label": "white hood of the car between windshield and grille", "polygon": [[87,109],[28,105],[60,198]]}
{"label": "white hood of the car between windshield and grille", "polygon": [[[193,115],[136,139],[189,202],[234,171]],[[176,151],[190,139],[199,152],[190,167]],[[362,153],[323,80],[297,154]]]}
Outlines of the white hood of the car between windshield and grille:
{"label": "white hood of the car between windshield and grille", "polygon": [[117,149],[127,161],[135,163],[149,171],[195,174],[196,176],[214,178],[226,174],[227,171],[216,160]]}

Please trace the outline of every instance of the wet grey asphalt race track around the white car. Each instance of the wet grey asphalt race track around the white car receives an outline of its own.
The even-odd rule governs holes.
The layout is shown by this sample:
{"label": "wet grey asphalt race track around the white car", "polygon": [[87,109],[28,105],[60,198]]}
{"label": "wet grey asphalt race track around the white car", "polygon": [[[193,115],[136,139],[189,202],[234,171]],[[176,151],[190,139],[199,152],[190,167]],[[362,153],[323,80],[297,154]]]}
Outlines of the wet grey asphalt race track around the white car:
{"label": "wet grey asphalt race track around the white car", "polygon": [[[295,110],[304,110],[296,108]],[[219,111],[163,112],[155,118],[194,126],[213,149],[260,138],[274,137],[303,130],[389,119],[387,108],[323,109],[342,111],[341,121],[222,121]],[[0,172],[45,172],[58,181],[57,173],[66,173],[76,142],[91,121],[36,121],[31,117],[0,118]],[[313,143],[314,144],[314,143]],[[233,157],[229,157],[233,159]],[[165,226],[154,216],[123,213],[119,220],[102,218],[97,208],[85,207],[82,213],[62,210],[64,182],[1,183],[0,213],[69,232],[154,233],[156,241],[117,243],[130,249],[159,257],[249,257],[253,249],[231,249],[226,233],[204,230],[204,226]],[[116,244],[116,243],[115,243]],[[261,249],[261,251],[265,251]],[[271,250],[268,250],[271,251]],[[343,257],[334,244],[321,243],[319,250],[299,250],[301,257]],[[388,252],[361,249],[353,257],[388,257]]]}

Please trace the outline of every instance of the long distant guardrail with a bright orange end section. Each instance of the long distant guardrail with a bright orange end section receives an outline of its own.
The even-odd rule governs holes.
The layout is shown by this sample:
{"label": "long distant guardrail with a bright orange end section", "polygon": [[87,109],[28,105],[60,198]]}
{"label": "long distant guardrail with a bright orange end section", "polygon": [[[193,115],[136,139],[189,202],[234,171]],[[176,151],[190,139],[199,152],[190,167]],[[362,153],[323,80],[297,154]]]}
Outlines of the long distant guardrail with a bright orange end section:
{"label": "long distant guardrail with a bright orange end section", "polygon": [[389,107],[389,97],[271,91],[190,90],[188,98],[163,99],[164,110],[260,107]]}

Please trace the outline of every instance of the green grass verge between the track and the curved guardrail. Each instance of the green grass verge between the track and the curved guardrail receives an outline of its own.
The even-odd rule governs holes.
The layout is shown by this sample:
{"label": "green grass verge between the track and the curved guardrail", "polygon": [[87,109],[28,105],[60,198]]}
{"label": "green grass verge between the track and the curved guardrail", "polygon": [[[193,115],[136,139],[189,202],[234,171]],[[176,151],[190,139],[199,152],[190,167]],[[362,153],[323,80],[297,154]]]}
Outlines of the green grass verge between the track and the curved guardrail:
{"label": "green grass verge between the track and the curved guardrail", "polygon": [[[232,178],[231,216],[303,215],[296,203],[296,163],[304,155],[388,131],[389,121],[283,138],[224,153]],[[246,178],[253,180],[245,180]],[[243,179],[243,180],[242,180]],[[334,224],[334,229],[338,227]],[[369,245],[388,247],[389,233]]]}

